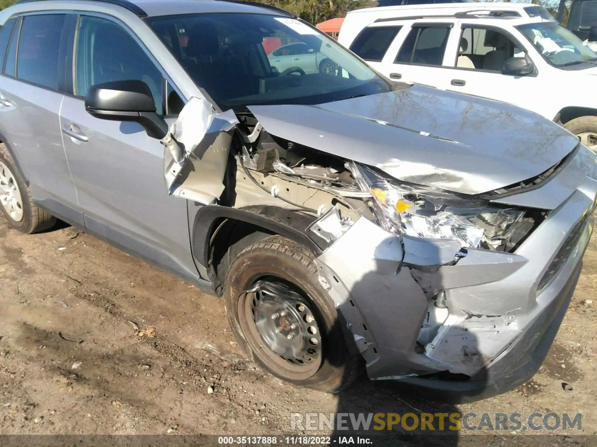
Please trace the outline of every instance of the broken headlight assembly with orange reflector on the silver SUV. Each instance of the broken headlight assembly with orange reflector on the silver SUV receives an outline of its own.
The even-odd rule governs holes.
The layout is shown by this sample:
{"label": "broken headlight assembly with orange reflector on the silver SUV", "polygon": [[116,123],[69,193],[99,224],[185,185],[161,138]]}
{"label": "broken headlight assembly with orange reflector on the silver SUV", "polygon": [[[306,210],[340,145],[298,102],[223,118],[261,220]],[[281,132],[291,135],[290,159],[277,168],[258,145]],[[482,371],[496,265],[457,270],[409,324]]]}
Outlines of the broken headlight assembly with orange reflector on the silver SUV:
{"label": "broken headlight assembly with orange reflector on the silver SUV", "polygon": [[350,163],[350,170],[359,187],[373,196],[379,224],[398,234],[504,250],[525,214],[524,210],[489,206],[485,200],[386,179],[359,163]]}

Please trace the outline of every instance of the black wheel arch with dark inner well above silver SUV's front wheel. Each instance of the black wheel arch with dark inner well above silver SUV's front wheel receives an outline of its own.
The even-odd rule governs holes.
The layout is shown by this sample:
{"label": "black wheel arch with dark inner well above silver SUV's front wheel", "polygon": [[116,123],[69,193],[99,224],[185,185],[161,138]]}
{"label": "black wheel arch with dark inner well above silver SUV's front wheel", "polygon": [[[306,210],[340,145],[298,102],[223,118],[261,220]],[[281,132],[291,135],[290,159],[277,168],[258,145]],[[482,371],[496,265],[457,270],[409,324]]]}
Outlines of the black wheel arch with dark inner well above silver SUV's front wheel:
{"label": "black wheel arch with dark inner well above silver SUV's front wheel", "polygon": [[195,261],[207,269],[216,293],[221,293],[220,256],[243,240],[253,243],[251,235],[281,235],[307,247],[315,256],[321,248],[306,233],[316,216],[275,206],[253,205],[241,209],[206,205],[198,210],[191,232],[191,250]]}

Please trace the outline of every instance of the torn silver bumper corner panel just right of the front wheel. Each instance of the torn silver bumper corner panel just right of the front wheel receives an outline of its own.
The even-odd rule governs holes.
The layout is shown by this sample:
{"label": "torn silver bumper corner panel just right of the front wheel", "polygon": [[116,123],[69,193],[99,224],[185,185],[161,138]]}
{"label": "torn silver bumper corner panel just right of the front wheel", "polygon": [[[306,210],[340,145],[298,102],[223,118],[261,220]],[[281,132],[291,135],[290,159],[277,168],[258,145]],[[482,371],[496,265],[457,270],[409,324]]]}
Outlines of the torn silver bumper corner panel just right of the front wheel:
{"label": "torn silver bumper corner panel just right of the front wheel", "polygon": [[410,269],[398,271],[402,256],[395,234],[360,218],[315,261],[370,378],[439,369],[414,350],[427,299]]}

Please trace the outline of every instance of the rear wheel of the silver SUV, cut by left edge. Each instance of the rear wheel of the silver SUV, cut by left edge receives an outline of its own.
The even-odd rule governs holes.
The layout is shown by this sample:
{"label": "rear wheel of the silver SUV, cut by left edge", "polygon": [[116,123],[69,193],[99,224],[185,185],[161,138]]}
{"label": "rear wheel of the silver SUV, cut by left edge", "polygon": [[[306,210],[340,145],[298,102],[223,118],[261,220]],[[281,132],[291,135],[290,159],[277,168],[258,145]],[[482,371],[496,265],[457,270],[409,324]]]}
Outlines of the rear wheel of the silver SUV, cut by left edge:
{"label": "rear wheel of the silver SUV, cut by left edge", "polygon": [[10,204],[7,204],[7,196],[4,195],[4,200],[0,200],[0,209],[7,218],[8,224],[14,229],[24,234],[32,234],[51,228],[56,224],[54,216],[39,209],[33,203],[31,191],[23,181],[19,169],[14,164],[13,157],[3,143],[0,143],[0,187],[4,187],[0,189],[0,194],[4,193],[7,188],[13,187],[11,197],[16,198],[16,207],[10,207]]}

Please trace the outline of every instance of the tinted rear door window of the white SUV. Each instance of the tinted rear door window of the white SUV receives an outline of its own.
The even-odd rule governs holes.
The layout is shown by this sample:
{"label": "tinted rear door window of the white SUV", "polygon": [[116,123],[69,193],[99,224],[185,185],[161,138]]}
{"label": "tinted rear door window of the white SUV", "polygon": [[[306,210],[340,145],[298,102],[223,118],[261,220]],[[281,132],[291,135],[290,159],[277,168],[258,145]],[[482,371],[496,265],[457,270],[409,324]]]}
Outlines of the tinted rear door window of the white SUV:
{"label": "tinted rear door window of the white SUV", "polygon": [[448,25],[414,26],[398,52],[396,63],[441,65],[448,36]]}

